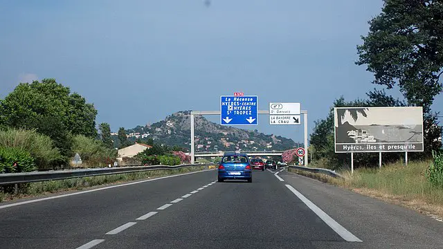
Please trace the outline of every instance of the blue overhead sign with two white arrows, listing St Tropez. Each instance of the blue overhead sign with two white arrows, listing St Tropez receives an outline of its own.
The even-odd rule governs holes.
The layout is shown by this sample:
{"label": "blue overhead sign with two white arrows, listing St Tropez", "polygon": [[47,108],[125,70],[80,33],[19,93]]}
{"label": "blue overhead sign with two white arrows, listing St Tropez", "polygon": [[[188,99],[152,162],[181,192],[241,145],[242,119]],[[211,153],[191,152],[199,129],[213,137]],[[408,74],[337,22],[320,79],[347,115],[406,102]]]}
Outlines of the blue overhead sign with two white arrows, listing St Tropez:
{"label": "blue overhead sign with two white arrows, listing St Tropez", "polygon": [[257,96],[221,96],[221,125],[257,125]]}

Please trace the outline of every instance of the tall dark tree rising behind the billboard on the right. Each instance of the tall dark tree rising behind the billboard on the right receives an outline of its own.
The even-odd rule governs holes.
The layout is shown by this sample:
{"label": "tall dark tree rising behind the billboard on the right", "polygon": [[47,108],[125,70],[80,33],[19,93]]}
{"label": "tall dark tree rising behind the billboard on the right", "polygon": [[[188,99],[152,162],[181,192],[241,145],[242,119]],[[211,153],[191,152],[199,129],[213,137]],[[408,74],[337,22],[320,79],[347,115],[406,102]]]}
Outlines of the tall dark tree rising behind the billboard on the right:
{"label": "tall dark tree rising behind the billboard on the right", "polygon": [[357,46],[358,65],[374,73],[374,84],[396,84],[409,105],[423,107],[425,150],[438,149],[442,127],[431,111],[442,93],[443,4],[435,0],[385,0],[370,32]]}

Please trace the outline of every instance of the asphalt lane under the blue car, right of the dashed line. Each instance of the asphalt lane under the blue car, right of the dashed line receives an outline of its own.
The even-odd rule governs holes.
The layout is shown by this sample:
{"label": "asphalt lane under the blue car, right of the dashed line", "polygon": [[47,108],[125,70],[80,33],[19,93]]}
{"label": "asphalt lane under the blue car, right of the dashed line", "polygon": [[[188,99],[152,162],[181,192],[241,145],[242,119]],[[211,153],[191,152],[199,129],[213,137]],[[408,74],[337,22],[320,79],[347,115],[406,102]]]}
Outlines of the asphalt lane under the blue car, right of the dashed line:
{"label": "asphalt lane under the blue car, right of the dashed line", "polygon": [[315,248],[314,241],[344,241],[269,172],[254,172],[253,183],[215,183],[105,239],[97,248]]}

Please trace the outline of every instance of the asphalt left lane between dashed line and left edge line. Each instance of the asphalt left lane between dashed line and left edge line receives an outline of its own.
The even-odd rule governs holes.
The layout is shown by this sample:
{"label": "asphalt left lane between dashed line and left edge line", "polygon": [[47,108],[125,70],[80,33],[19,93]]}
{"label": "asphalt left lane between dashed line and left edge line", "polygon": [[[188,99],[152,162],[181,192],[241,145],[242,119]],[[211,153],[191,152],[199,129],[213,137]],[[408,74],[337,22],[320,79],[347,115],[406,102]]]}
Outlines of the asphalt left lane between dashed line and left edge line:
{"label": "asphalt left lane between dashed line and left edge line", "polygon": [[77,248],[213,181],[214,174],[212,170],[11,208],[0,206],[0,248]]}

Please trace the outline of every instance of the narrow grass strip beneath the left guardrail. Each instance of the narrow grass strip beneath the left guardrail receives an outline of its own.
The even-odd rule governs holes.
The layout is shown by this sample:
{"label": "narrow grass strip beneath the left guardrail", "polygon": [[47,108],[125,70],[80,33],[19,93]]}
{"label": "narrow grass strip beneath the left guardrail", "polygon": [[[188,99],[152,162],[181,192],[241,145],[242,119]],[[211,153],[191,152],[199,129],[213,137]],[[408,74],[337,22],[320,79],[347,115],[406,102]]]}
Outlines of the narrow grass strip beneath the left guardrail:
{"label": "narrow grass strip beneath the left guardrail", "polygon": [[26,183],[19,185],[19,192],[12,194],[3,192],[0,188],[0,203],[3,201],[12,201],[15,199],[24,199],[28,197],[43,196],[45,194],[66,192],[71,190],[84,190],[88,187],[107,185],[110,183],[124,183],[147,178],[157,178],[173,174],[183,174],[188,172],[197,172],[204,169],[213,169],[212,165],[201,165],[196,167],[187,167],[183,169],[155,169],[147,172],[134,172],[125,174],[111,174],[107,176],[88,176],[82,178],[71,178],[57,181],[44,181],[39,183]]}

